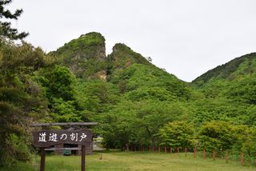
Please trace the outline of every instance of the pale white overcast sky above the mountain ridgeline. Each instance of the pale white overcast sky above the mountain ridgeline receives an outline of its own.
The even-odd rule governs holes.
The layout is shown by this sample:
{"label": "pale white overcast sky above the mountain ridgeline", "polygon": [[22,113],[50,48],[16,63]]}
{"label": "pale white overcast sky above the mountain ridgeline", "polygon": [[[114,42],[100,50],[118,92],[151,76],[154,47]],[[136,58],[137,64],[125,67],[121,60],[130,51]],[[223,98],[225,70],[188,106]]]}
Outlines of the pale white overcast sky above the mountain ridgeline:
{"label": "pale white overcast sky above the mountain ridgeline", "polygon": [[96,31],[107,54],[125,43],[186,82],[256,51],[255,0],[13,0],[9,8],[24,10],[14,26],[46,52]]}

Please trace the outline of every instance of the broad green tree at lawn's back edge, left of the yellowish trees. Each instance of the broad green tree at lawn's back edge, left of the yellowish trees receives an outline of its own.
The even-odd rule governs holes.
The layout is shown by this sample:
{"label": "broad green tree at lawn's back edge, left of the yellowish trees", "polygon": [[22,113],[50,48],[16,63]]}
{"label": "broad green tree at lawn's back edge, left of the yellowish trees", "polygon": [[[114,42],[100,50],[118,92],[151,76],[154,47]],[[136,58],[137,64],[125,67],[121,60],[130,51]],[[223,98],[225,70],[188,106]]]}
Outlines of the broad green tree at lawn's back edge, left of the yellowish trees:
{"label": "broad green tree at lawn's back edge, left of the yellowish trees", "polygon": [[102,125],[105,125],[102,129],[107,128],[102,136],[106,145],[112,147],[159,145],[159,129],[169,121],[178,120],[184,113],[178,103],[156,100],[134,102],[122,98],[102,115]]}

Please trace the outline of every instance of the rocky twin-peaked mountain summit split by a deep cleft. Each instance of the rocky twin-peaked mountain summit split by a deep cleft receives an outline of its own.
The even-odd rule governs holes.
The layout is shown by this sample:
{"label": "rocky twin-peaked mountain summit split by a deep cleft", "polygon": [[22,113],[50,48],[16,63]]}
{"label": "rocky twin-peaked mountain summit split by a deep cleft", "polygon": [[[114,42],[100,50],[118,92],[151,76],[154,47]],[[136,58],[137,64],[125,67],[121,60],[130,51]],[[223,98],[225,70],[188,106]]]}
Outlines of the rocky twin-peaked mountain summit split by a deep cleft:
{"label": "rocky twin-peaked mountain summit split by a deep cleft", "polygon": [[61,65],[69,67],[77,77],[100,78],[104,81],[114,72],[122,72],[134,63],[152,65],[122,43],[116,44],[113,52],[106,57],[105,38],[96,32],[82,34],[50,54],[56,56]]}

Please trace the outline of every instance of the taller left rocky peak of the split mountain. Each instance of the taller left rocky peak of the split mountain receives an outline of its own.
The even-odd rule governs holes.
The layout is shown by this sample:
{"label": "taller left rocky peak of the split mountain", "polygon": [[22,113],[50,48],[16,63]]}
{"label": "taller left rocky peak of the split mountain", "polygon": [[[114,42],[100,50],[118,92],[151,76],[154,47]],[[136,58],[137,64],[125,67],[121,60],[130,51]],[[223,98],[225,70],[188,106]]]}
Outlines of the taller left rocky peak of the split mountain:
{"label": "taller left rocky peak of the split mountain", "polygon": [[102,34],[82,34],[50,54],[58,56],[61,64],[79,78],[106,77],[106,47]]}

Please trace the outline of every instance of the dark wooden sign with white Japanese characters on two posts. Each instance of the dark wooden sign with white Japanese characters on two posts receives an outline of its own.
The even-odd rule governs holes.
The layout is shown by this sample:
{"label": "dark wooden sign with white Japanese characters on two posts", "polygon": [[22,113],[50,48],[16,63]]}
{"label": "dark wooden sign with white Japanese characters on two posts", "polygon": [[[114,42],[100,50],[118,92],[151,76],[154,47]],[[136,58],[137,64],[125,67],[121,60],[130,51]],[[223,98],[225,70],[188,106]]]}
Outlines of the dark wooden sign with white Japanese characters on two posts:
{"label": "dark wooden sign with white Japanese characters on two posts", "polygon": [[[96,122],[71,122],[71,123],[41,123],[33,124],[31,126],[52,126],[52,125],[97,125]],[[92,143],[93,133],[90,129],[78,130],[40,130],[33,131],[33,145],[41,149],[40,171],[45,171],[46,165],[46,148],[58,144],[74,144],[81,145],[81,170],[86,170],[86,146]],[[66,149],[66,148],[51,148],[52,150]],[[69,148],[70,149],[70,148]],[[76,148],[78,149],[78,148]]]}

